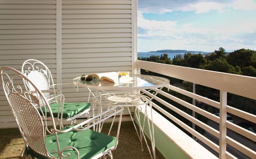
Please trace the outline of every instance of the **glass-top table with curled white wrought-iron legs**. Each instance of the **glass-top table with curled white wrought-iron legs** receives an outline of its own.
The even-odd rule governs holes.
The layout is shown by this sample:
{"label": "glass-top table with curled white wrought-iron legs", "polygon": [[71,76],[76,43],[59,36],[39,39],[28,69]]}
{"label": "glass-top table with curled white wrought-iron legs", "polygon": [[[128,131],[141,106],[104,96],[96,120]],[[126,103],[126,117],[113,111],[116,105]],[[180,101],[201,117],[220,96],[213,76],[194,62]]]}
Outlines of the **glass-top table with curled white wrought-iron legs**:
{"label": "glass-top table with curled white wrought-iron legs", "polygon": [[[152,99],[156,97],[159,90],[163,87],[169,87],[170,80],[150,75],[143,74],[130,74],[132,80],[126,85],[121,85],[119,83],[110,83],[100,80],[91,80],[91,81],[82,81],[81,77],[76,77],[73,79],[74,85],[78,87],[87,88],[94,97],[94,101],[97,101],[99,105],[106,105],[102,101],[107,101],[107,105],[119,105],[127,107],[129,114],[131,116],[134,128],[137,131],[135,126],[132,112],[130,107],[134,107],[135,119],[138,120],[138,126],[140,131],[137,131],[137,135],[141,142],[145,140],[148,151],[151,158],[156,158],[155,155],[155,137],[154,137],[154,122],[153,122],[153,113],[152,113]],[[93,92],[96,90],[96,93]],[[111,90],[111,91],[110,91]],[[113,93],[114,90],[121,91],[118,93]],[[148,95],[149,91],[155,91],[155,93]],[[111,92],[111,93],[110,93]],[[145,114],[146,118],[141,118],[141,112]],[[147,122],[145,122],[147,120]],[[149,130],[149,139],[151,141],[151,149],[147,143],[147,139],[143,133],[145,130],[145,123],[148,126]],[[142,148],[143,150],[143,148]]]}

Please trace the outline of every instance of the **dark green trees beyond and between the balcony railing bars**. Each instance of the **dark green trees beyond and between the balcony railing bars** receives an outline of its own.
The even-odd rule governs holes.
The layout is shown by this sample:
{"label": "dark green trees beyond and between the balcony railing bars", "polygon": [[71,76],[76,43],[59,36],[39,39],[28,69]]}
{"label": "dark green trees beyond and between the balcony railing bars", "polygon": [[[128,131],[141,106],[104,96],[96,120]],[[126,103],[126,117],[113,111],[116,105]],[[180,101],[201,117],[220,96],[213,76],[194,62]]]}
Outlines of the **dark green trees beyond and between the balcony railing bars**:
{"label": "dark green trees beyond and between the balcony railing bars", "polygon": [[[227,53],[224,48],[220,47],[219,50],[214,51],[211,54],[205,54],[205,55],[200,53],[193,54],[188,52],[183,56],[176,55],[173,58],[173,60],[171,60],[167,54],[163,54],[161,56],[152,55],[146,58],[142,57],[142,58],[138,58],[138,60],[173,64],[173,65],[186,66],[186,67],[196,68],[196,69],[205,69],[205,70],[212,70],[212,71],[219,71],[219,72],[256,77],[256,52],[250,49],[244,49],[244,48],[231,53]],[[147,70],[141,70],[141,73],[163,76],[161,74],[157,74],[155,72],[149,72]],[[179,87],[182,87],[185,90],[193,91],[193,83],[182,81],[179,79],[174,79],[171,77],[166,77],[166,78],[170,79],[171,85],[175,85],[175,86],[178,85]],[[174,91],[167,90],[167,89],[165,91],[175,97],[183,99],[188,103],[192,103],[192,99],[187,96],[175,93]],[[216,90],[213,88],[196,85],[196,94],[213,99],[214,101],[220,100],[219,90]],[[189,110],[188,108],[178,103],[173,102],[171,99],[168,99],[163,96],[161,96],[161,98],[164,99],[166,102],[176,106],[177,108],[180,108],[182,111],[188,114],[192,114],[191,110]],[[158,102],[156,103],[158,105],[161,105],[161,103],[158,103]],[[217,108],[214,108],[212,106],[209,106],[199,101],[196,102],[196,105],[211,113],[219,112]],[[256,114],[256,106],[255,106],[256,101],[249,98],[228,93],[228,105],[252,114]],[[169,111],[172,115],[182,120],[183,122],[187,123],[190,126],[192,125],[190,121],[182,118],[182,116],[180,116],[179,114],[169,110],[169,108],[166,108],[163,105],[162,107],[166,111]],[[207,123],[208,121],[208,119],[206,119],[204,116],[197,113],[196,113],[196,118],[205,123]],[[201,132],[201,133],[204,132],[204,130],[202,130],[201,128],[196,127],[196,129],[198,132]]]}

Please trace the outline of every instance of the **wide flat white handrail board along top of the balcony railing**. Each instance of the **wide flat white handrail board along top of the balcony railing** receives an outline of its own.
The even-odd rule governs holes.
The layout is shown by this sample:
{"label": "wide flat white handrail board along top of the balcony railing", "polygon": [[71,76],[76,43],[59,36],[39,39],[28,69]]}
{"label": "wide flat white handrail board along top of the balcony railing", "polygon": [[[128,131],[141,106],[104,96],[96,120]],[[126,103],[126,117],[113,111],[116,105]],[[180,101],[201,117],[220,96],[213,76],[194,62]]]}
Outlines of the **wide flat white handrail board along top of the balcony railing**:
{"label": "wide flat white handrail board along top of the balcony railing", "polygon": [[141,60],[137,61],[137,66],[138,69],[141,68],[157,72],[159,74],[164,74],[165,76],[256,99],[256,78],[254,77]]}

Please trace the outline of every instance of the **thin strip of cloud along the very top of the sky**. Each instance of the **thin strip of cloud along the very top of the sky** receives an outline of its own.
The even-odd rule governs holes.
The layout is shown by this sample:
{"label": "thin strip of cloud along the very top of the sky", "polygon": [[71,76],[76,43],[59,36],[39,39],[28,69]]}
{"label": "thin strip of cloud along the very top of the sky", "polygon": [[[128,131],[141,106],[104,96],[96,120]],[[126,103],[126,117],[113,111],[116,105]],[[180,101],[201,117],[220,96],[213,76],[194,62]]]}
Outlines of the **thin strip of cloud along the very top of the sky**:
{"label": "thin strip of cloud along the very top of the sky", "polygon": [[211,10],[225,11],[228,7],[236,10],[254,10],[254,0],[138,0],[139,10],[145,13],[165,13],[172,11],[195,11],[205,13]]}

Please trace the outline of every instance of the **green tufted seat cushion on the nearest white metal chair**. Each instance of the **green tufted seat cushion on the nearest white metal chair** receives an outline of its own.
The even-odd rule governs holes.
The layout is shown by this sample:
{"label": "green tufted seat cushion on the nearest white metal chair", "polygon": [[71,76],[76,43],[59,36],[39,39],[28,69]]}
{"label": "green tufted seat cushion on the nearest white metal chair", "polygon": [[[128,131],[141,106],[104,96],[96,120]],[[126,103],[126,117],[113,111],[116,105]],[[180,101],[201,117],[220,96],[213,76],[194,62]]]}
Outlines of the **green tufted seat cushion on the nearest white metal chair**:
{"label": "green tufted seat cushion on the nearest white metal chair", "polygon": [[[108,136],[103,133],[95,132],[93,130],[85,131],[70,131],[67,133],[58,134],[60,149],[67,146],[73,146],[78,149],[79,158],[92,158],[93,156],[104,152],[105,150],[114,147],[116,137]],[[53,150],[57,150],[57,143],[54,135],[46,137],[47,150],[54,156],[58,156],[57,153],[53,153]],[[29,154],[37,158],[45,158],[33,150],[28,150]],[[68,148],[63,154],[70,153],[69,158],[76,158],[77,154],[75,150]]]}

